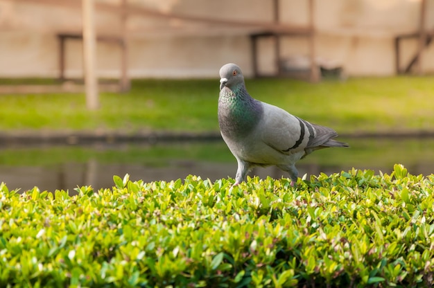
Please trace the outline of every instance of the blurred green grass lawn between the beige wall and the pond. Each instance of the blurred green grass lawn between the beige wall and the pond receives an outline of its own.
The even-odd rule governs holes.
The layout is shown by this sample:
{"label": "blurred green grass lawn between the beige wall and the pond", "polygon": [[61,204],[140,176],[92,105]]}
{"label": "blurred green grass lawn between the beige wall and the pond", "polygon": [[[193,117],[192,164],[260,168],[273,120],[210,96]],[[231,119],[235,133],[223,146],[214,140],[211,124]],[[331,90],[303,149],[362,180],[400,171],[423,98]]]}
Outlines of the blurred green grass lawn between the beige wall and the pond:
{"label": "blurred green grass lawn between the beige wall and the pond", "polygon": [[[248,79],[246,86],[254,98],[340,134],[433,131],[432,76],[318,84]],[[218,131],[218,79],[133,80],[130,92],[101,93],[100,100],[101,109],[87,111],[83,93],[1,95],[0,129]]]}

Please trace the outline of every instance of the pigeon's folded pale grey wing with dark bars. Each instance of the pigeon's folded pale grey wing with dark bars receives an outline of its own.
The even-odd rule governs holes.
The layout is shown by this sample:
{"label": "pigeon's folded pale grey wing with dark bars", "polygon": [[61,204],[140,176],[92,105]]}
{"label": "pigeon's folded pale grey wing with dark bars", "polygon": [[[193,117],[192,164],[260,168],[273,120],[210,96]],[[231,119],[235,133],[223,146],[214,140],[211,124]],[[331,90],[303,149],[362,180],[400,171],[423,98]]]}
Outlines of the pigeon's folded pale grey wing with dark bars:
{"label": "pigeon's folded pale grey wing with dark bars", "polygon": [[267,103],[263,103],[263,118],[257,129],[263,143],[283,154],[304,150],[315,136],[310,123]]}

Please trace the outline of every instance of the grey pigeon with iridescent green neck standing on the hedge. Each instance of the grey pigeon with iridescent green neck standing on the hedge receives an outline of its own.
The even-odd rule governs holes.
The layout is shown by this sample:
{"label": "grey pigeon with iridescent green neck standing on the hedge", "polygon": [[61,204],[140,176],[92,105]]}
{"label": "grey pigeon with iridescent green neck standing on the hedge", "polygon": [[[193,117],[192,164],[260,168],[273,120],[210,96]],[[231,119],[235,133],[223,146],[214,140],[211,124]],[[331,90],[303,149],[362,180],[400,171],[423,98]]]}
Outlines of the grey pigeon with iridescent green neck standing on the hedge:
{"label": "grey pigeon with iridescent green neck standing on the hedge", "polygon": [[233,63],[220,69],[218,97],[220,133],[238,163],[234,186],[246,180],[255,166],[276,165],[297,183],[295,163],[326,147],[349,147],[333,140],[338,134],[329,127],[309,123],[284,109],[261,102],[245,88],[243,73]]}

